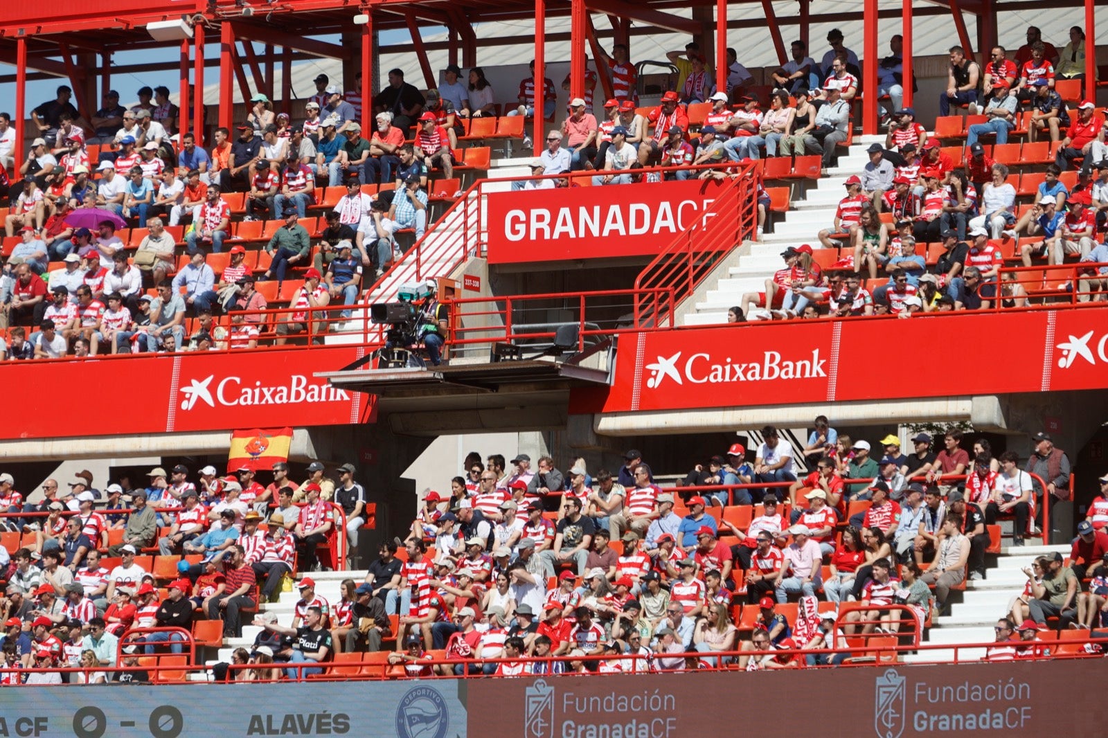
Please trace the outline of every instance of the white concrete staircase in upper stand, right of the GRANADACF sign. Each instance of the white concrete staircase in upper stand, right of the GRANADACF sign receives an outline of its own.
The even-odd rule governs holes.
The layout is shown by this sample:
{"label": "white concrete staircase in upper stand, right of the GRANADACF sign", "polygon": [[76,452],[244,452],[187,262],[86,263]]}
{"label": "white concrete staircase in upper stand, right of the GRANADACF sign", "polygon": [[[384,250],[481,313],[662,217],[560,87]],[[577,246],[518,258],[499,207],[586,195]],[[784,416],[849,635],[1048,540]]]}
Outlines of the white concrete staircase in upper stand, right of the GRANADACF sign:
{"label": "white concrete staircase in upper stand, right of the GRANADACF sign", "polygon": [[705,298],[696,303],[696,309],[685,315],[685,325],[727,322],[727,309],[738,305],[743,293],[762,291],[766,279],[781,268],[781,252],[801,244],[820,248],[815,235],[831,226],[835,207],[845,194],[843,183],[850,175],[861,173],[869,162],[865,148],[874,142],[883,143],[884,137],[854,136],[853,145],[839,156],[838,165],[828,171],[828,176],[820,177],[803,199],[792,202],[784,219],[774,221],[771,233],[765,234],[760,243],[751,244],[750,254],[739,257],[738,266],[730,268],[729,276],[720,279],[715,289],[709,289]]}

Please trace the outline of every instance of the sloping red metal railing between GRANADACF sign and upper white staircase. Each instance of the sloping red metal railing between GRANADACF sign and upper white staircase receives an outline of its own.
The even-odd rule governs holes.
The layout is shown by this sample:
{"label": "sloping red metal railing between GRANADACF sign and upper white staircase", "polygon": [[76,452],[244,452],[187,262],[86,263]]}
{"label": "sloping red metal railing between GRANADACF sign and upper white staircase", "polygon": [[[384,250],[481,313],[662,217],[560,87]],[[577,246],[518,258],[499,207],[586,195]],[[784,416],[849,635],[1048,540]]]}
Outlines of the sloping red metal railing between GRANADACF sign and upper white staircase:
{"label": "sloping red metal railing between GRANADACF sign and upper white staircase", "polygon": [[[697,225],[679,235],[638,275],[635,326],[671,327],[677,304],[691,296],[719,259],[755,235],[758,223],[758,167],[732,165],[730,182],[716,194]],[[670,306],[652,299],[658,289],[671,289]]]}

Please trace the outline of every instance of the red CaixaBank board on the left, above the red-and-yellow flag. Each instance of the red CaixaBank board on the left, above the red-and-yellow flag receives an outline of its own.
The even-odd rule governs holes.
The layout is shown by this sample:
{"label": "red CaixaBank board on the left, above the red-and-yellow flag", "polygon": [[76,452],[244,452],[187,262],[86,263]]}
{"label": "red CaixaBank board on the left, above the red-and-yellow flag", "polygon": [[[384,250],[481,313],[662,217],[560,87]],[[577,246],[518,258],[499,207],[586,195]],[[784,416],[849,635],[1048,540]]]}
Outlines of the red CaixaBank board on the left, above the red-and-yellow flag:
{"label": "red CaixaBank board on the left, above the red-and-yellow flag", "polygon": [[[0,424],[0,439],[116,435],[178,431],[346,426],[360,421],[366,398],[314,373],[340,369],[357,347],[135,356],[85,361],[13,361],[8,387],[47,387],[34,412]],[[57,388],[96,383],[95,412],[81,412]],[[65,418],[62,426],[58,418]]]}

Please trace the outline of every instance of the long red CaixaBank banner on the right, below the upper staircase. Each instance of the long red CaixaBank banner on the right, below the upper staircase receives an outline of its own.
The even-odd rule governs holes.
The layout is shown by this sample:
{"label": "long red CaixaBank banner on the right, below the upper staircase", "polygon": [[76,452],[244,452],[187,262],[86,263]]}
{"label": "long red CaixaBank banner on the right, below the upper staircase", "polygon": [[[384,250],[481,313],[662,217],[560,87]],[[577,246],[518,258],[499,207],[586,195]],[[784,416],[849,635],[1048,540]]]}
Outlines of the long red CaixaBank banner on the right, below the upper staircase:
{"label": "long red CaixaBank banner on the right, below the upper staircase", "polygon": [[1108,308],[629,334],[606,397],[575,392],[571,412],[1102,389],[1104,326]]}

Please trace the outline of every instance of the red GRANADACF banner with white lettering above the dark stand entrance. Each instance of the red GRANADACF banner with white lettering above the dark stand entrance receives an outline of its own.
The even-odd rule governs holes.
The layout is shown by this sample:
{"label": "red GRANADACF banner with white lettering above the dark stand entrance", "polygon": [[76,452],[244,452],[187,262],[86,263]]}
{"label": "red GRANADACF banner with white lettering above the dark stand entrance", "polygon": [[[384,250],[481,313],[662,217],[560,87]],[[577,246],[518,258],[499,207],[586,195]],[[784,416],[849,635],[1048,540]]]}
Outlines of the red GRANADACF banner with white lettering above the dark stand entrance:
{"label": "red GRANADACF banner with white lettering above the dark stand entrance", "polygon": [[720,188],[687,180],[491,193],[489,263],[653,256],[696,225]]}

